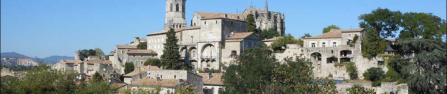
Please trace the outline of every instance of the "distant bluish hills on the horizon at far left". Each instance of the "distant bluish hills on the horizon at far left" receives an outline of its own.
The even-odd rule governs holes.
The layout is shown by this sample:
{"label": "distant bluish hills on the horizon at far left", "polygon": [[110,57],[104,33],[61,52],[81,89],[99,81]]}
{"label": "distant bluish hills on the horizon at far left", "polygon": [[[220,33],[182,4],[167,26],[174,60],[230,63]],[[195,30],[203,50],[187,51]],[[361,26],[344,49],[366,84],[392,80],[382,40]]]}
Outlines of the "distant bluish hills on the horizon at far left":
{"label": "distant bluish hills on the horizon at far left", "polygon": [[[20,53],[15,53],[15,52],[5,52],[5,53],[0,53],[0,57],[17,57],[17,58],[30,58],[33,61],[39,62],[38,59],[36,57],[29,57],[29,56],[25,56],[22,55]],[[55,64],[56,62],[58,62],[61,59],[66,59],[66,60],[70,60],[70,59],[75,59],[75,57],[68,57],[68,56],[50,56],[50,57],[45,57],[45,58],[39,58],[39,60],[46,62],[48,64]]]}

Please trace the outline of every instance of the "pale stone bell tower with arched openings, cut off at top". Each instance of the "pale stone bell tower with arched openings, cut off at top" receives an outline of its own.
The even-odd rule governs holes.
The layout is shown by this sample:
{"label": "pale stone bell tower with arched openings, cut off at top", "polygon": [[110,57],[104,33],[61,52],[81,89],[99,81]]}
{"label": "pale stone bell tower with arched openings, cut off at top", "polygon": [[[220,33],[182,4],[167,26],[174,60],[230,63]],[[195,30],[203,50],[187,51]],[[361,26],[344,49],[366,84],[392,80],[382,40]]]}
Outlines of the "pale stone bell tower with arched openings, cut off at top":
{"label": "pale stone bell tower with arched openings, cut off at top", "polygon": [[166,18],[164,29],[186,27],[186,0],[166,0]]}

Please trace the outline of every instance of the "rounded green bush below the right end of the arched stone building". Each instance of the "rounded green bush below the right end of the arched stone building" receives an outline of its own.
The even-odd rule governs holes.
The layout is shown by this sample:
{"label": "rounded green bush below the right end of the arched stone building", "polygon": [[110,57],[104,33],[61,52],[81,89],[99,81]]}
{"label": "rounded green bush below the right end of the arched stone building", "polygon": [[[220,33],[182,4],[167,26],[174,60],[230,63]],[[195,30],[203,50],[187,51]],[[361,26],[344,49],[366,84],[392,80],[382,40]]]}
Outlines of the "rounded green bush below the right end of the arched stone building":
{"label": "rounded green bush below the right end of the arched stone building", "polygon": [[379,67],[371,67],[367,69],[367,71],[363,74],[366,80],[369,80],[371,82],[375,82],[379,80],[380,78],[384,77],[385,72],[382,70],[382,68]]}

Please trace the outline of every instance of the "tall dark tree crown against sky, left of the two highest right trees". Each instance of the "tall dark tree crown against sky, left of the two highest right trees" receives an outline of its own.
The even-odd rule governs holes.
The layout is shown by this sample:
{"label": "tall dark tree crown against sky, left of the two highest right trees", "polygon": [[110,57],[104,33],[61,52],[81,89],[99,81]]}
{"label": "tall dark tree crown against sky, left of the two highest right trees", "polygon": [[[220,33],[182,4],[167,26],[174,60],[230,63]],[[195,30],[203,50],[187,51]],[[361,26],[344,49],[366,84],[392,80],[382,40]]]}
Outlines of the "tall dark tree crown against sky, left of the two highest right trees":
{"label": "tall dark tree crown against sky, left of the two highest right trees", "polygon": [[388,8],[377,8],[371,13],[358,16],[358,20],[362,20],[360,28],[371,28],[380,34],[383,38],[395,37],[402,18],[402,12],[391,11]]}

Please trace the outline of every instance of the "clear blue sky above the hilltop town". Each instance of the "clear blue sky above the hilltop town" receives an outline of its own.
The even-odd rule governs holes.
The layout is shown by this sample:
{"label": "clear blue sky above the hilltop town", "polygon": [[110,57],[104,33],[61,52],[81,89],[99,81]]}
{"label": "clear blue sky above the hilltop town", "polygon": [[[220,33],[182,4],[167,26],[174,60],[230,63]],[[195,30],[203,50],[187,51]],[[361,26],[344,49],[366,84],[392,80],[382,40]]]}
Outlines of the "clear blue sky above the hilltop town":
{"label": "clear blue sky above the hilltop town", "polygon": [[[187,0],[194,11],[236,13],[265,0]],[[74,56],[77,49],[124,45],[163,29],[165,0],[1,0],[1,52],[34,57]],[[446,0],[270,0],[269,10],[286,15],[286,33],[321,33],[328,25],[358,28],[359,15],[376,8],[430,12],[446,19]]]}

